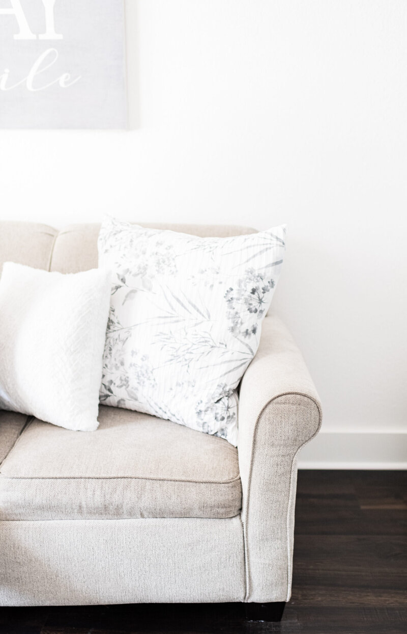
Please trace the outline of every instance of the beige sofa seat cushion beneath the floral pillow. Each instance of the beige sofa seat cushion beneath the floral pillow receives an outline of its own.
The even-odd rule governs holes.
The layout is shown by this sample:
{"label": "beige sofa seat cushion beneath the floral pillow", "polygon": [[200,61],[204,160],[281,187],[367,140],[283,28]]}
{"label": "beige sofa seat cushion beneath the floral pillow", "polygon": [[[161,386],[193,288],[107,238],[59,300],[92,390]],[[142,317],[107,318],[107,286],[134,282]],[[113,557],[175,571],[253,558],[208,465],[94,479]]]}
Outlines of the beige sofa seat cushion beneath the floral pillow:
{"label": "beige sofa seat cushion beneath the floral pillow", "polygon": [[237,450],[135,411],[100,407],[96,432],[37,419],[0,468],[0,521],[234,517]]}

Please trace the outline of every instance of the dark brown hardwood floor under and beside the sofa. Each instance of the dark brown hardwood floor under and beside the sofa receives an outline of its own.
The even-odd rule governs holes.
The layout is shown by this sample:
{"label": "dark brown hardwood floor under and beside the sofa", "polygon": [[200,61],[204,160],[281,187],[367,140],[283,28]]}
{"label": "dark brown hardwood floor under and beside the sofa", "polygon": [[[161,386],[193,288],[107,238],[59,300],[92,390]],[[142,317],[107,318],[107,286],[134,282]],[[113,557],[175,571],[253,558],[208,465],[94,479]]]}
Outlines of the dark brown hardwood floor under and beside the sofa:
{"label": "dark brown hardwood floor under and beside the sofa", "polygon": [[407,472],[299,472],[281,623],[247,622],[239,604],[0,608],[0,632],[406,634]]}

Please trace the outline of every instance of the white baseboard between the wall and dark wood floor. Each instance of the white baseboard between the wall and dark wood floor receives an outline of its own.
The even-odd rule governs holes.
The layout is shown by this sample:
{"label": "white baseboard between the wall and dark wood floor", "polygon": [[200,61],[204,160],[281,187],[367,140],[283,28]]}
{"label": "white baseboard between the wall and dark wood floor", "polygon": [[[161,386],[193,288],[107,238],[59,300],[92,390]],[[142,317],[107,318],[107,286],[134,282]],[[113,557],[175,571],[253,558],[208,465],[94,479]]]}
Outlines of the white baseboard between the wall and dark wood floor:
{"label": "white baseboard between the wall and dark wood floor", "polygon": [[407,433],[321,432],[298,456],[299,469],[407,469]]}

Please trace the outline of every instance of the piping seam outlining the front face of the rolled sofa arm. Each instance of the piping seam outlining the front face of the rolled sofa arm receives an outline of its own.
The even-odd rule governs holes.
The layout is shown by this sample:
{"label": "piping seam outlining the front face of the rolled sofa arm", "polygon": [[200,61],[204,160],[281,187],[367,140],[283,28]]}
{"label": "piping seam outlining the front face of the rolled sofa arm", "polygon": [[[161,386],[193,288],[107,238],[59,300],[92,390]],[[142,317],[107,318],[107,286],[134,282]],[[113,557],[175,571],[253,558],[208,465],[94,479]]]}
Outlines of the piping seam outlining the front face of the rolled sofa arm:
{"label": "piping seam outlining the front face of the rolled sofa arm", "polygon": [[[246,597],[244,598],[245,602],[248,601],[249,594],[250,594],[250,591],[251,591],[250,574],[249,574],[250,562],[249,562],[249,543],[248,543],[248,539],[247,539],[247,524],[248,524],[248,520],[249,520],[250,489],[251,489],[251,479],[252,479],[252,475],[253,475],[254,446],[256,445],[256,441],[257,441],[257,432],[258,432],[259,421],[260,421],[261,416],[266,411],[268,406],[270,404],[272,404],[273,401],[275,401],[276,399],[280,398],[281,396],[304,396],[304,398],[307,398],[310,401],[312,401],[312,403],[314,403],[316,405],[316,408],[318,410],[318,427],[316,428],[315,434],[313,434],[313,436],[311,436],[308,440],[306,440],[303,444],[301,444],[299,446],[299,448],[297,449],[297,451],[294,453],[294,457],[292,458],[292,463],[291,463],[291,474],[292,474],[292,464],[293,464],[293,462],[294,462],[294,460],[296,458],[297,453],[299,452],[299,450],[301,450],[303,448],[304,445],[308,444],[313,438],[315,438],[315,436],[316,436],[316,434],[318,434],[318,431],[320,430],[320,427],[321,427],[321,424],[322,424],[322,410],[321,410],[320,404],[318,403],[318,401],[316,401],[315,398],[310,396],[310,394],[306,394],[305,392],[282,392],[281,394],[277,394],[277,396],[273,396],[273,398],[270,399],[270,401],[268,401],[265,404],[265,406],[263,406],[263,408],[261,409],[260,413],[258,414],[258,417],[256,418],[256,422],[254,424],[254,431],[253,431],[253,443],[252,443],[251,452],[250,452],[249,477],[247,478],[247,504],[246,504],[246,510],[244,512],[244,515],[242,515],[242,522],[243,522],[243,526],[244,526],[243,534],[244,534],[244,553],[245,553],[245,564],[246,564]],[[290,479],[290,492],[289,492],[289,495],[291,495],[291,487],[292,487],[292,477]],[[286,521],[286,534],[288,534],[288,531],[289,531],[288,519],[289,519],[289,512],[288,512],[288,509],[287,509],[287,517],[285,518],[285,521]],[[288,545],[287,545],[287,548],[289,548]],[[288,574],[288,569],[287,569],[287,574]],[[287,590],[287,593],[288,593],[288,590]]]}

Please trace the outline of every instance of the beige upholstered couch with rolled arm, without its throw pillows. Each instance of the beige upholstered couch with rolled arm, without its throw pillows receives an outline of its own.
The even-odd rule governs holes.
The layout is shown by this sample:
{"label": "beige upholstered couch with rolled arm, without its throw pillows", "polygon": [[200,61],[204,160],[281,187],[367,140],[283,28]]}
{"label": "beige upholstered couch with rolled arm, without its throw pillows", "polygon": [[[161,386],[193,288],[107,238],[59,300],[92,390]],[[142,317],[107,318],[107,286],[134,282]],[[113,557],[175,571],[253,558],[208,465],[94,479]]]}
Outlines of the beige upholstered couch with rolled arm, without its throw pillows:
{"label": "beige upholstered couch with rolled arm, without its throw pillows", "polygon": [[[98,231],[0,223],[0,267],[94,268]],[[266,317],[242,379],[237,449],[133,411],[101,406],[99,420],[96,432],[72,432],[0,411],[0,605],[246,602],[249,616],[279,618],[291,595],[296,456],[321,423],[284,324]]]}

